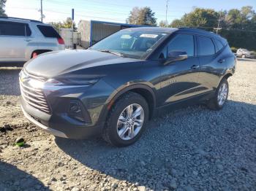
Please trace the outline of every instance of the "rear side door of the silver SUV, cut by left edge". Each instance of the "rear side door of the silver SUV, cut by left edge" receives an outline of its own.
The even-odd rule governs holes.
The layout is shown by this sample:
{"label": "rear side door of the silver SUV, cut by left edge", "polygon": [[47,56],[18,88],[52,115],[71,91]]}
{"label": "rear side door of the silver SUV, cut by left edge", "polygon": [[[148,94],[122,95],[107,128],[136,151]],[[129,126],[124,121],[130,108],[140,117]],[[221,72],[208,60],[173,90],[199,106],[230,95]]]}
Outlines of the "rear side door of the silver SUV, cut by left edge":
{"label": "rear side door of the silver SUV, cut by left edge", "polygon": [[0,61],[26,60],[26,26],[26,23],[0,21]]}

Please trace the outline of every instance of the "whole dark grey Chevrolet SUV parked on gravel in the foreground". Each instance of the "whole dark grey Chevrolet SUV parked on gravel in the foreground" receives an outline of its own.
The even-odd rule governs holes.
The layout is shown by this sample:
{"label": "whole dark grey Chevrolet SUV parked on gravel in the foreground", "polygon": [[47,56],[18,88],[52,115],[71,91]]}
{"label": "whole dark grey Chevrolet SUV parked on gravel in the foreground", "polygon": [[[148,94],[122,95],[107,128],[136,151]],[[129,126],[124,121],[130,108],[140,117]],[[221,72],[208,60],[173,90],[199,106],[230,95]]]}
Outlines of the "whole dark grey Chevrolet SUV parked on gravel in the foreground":
{"label": "whole dark grey Chevrolet SUV parked on gravel in the foreground", "polygon": [[[221,36],[189,28],[129,28],[89,50],[47,52],[20,72],[23,113],[71,139],[124,147],[154,115],[189,104],[219,110],[236,57]],[[171,129],[170,129],[171,130]]]}

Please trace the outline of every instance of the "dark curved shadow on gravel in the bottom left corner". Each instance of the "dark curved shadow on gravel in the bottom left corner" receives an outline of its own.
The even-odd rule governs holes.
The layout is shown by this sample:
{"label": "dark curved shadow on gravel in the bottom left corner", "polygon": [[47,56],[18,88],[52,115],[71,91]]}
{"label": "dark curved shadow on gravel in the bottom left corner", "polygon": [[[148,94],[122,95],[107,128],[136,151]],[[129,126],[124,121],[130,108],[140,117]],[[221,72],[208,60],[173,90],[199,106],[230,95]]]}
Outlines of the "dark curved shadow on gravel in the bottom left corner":
{"label": "dark curved shadow on gravel in the bottom left corner", "polygon": [[0,190],[50,190],[31,174],[0,161]]}

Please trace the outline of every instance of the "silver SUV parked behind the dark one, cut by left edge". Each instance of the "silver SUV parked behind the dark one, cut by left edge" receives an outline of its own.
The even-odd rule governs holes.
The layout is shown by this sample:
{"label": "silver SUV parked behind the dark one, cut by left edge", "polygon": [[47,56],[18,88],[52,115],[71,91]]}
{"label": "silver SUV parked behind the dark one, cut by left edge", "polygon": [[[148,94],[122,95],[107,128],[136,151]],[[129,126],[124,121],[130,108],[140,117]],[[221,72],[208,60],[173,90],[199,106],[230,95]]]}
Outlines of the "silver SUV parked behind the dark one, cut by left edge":
{"label": "silver SUV parked behind the dark one, cut by left edge", "polygon": [[24,63],[53,50],[64,50],[64,40],[52,26],[37,20],[0,17],[0,63]]}

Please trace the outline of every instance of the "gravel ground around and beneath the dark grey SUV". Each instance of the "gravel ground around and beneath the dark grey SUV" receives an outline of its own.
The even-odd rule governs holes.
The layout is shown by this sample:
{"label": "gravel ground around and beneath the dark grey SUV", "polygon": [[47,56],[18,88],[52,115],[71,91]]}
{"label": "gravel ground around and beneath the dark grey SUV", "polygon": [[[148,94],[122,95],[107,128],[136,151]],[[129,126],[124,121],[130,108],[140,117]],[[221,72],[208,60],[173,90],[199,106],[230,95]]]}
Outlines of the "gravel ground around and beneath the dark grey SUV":
{"label": "gravel ground around and beneath the dark grey SUV", "polygon": [[[18,68],[0,69],[0,190],[256,190],[256,61],[238,61],[222,111],[192,106],[148,123],[126,148],[55,138],[19,106]],[[25,147],[15,147],[18,136]]]}

